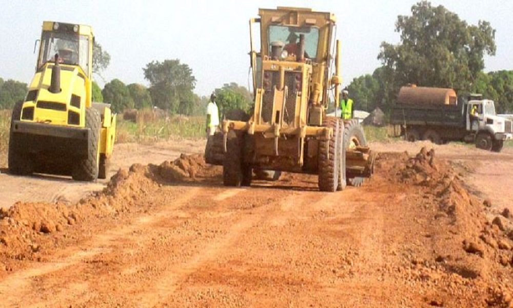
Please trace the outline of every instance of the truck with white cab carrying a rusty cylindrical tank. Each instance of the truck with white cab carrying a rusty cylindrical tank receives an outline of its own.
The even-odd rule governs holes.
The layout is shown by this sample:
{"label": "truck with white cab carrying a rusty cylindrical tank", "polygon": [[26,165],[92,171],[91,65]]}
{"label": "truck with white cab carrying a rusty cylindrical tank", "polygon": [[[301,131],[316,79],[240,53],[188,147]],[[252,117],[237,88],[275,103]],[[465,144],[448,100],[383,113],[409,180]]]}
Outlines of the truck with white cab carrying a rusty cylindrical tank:
{"label": "truck with white cab carrying a rusty cylindrical tank", "polygon": [[[477,117],[471,115],[473,107]],[[445,88],[402,87],[390,123],[400,126],[401,136],[408,141],[463,141],[495,152],[513,136],[511,120],[496,114],[494,101],[480,94],[458,98],[453,89]]]}

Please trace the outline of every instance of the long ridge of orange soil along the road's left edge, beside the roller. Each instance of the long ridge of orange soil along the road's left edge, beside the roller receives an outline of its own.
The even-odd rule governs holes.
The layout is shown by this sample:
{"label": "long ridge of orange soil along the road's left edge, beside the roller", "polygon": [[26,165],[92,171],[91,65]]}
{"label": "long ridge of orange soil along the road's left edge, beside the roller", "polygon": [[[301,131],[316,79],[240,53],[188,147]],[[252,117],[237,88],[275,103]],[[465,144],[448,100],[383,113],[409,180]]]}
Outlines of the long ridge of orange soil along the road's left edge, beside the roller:
{"label": "long ridge of orange soil along the road's left edge, beside the roller", "polygon": [[182,154],[160,166],[134,164],[120,169],[103,191],[73,205],[17,202],[9,209],[0,208],[0,259],[37,259],[34,253],[54,247],[51,234],[58,236],[69,226],[137,210],[137,201],[162,183],[194,179],[206,169],[202,156]]}

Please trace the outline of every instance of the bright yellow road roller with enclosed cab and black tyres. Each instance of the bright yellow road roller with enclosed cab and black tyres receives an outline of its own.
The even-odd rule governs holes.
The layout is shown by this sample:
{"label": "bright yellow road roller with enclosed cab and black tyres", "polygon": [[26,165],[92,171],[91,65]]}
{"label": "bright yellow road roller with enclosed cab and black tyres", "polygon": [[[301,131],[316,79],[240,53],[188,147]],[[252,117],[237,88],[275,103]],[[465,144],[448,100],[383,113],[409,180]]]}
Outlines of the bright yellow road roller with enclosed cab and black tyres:
{"label": "bright yellow road roller with enclosed cab and black tyres", "polygon": [[9,172],[106,178],[116,114],[109,104],[92,102],[92,28],[43,22],[37,42],[35,75],[12,110]]}

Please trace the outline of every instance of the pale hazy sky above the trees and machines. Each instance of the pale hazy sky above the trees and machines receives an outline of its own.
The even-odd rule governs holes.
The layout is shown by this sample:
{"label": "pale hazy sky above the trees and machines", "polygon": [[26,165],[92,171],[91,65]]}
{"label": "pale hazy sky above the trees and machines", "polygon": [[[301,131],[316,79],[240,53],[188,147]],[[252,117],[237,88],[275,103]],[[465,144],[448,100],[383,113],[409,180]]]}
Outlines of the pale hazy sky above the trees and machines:
{"label": "pale hazy sky above the trees and machines", "polygon": [[[29,83],[35,70],[34,42],[43,21],[86,24],[111,55],[102,74],[108,82],[141,83],[151,61],[180,59],[197,80],[195,92],[208,95],[225,83],[248,86],[250,17],[259,8],[310,7],[336,14],[342,42],[342,78],[372,73],[381,42],[398,43],[398,15],[410,15],[417,0],[349,1],[12,1],[0,0],[0,77]],[[491,23],[497,53],[485,57],[485,71],[513,69],[511,0],[431,1],[457,13],[469,24]],[[103,86],[98,76],[95,80]]]}

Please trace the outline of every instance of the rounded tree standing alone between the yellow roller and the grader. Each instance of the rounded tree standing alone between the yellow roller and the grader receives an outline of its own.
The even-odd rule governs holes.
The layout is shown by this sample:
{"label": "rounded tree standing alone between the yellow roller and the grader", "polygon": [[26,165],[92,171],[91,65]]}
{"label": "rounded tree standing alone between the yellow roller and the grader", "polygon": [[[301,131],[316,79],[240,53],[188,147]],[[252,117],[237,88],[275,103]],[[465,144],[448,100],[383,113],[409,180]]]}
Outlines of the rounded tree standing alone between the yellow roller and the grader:
{"label": "rounded tree standing alone between the yellow roller and the grader", "polygon": [[196,79],[192,69],[180,60],[152,61],[143,68],[144,77],[150,82],[153,105],[171,113],[190,114],[194,110]]}

